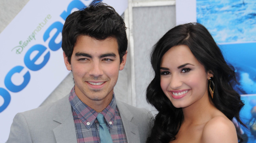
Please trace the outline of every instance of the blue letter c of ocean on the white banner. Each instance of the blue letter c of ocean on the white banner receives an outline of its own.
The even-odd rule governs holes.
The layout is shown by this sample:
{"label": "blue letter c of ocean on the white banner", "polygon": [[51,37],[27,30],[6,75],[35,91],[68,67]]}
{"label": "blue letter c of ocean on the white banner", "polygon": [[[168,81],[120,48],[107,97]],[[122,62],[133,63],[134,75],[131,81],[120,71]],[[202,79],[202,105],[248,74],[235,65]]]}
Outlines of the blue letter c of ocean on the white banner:
{"label": "blue letter c of ocean on the white banner", "polygon": [[22,66],[16,66],[14,68],[12,68],[6,75],[5,77],[5,86],[8,90],[10,90],[11,92],[19,92],[21,91],[23,88],[25,88],[29,81],[30,81],[30,73],[29,71],[26,72],[23,77],[24,77],[24,81],[21,85],[16,86],[11,82],[11,77],[14,73],[20,73],[22,70],[24,69],[24,67]]}

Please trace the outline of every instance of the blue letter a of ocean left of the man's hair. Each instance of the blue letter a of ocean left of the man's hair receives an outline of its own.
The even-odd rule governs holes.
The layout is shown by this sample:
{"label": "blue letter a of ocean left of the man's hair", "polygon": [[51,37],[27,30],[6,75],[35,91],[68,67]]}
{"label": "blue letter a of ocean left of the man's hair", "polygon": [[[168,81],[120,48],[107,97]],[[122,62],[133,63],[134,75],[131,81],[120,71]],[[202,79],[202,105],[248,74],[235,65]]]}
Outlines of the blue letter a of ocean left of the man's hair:
{"label": "blue letter a of ocean left of the man's hair", "polygon": [[53,38],[50,40],[49,42],[49,48],[53,51],[57,51],[59,50],[59,48],[61,48],[61,43],[62,41],[60,41],[59,43],[55,43],[55,39],[57,38],[57,36],[59,35],[59,33],[62,32],[62,28],[63,28],[63,24],[60,22],[55,22],[53,23],[44,33],[43,39],[44,41],[46,41],[49,37],[50,37],[50,32],[54,29],[57,28],[57,32],[54,34]]}

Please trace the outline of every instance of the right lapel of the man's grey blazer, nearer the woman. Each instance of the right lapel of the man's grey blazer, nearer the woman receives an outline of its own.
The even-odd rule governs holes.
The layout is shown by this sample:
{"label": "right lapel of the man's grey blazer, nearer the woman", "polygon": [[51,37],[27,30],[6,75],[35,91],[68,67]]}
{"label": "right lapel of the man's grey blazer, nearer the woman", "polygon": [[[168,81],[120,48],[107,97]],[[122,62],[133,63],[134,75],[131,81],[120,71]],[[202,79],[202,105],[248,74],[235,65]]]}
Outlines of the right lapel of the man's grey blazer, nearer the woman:
{"label": "right lapel of the man's grey blazer, nearer the woman", "polygon": [[139,129],[138,129],[138,126],[132,122],[133,114],[130,112],[130,110],[126,106],[120,103],[120,101],[116,100],[116,103],[117,103],[117,108],[119,110],[122,123],[124,126],[127,142],[128,143],[138,142],[140,140]]}

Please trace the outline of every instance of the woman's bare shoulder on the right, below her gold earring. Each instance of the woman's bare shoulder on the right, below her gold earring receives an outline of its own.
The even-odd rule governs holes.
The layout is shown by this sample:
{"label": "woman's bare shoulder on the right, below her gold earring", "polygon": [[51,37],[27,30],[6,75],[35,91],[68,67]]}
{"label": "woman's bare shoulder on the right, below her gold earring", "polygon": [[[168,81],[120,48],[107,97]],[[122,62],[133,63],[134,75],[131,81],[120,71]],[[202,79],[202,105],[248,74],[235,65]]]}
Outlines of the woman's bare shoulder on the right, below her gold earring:
{"label": "woman's bare shoulder on the right, below her gold earring", "polygon": [[235,125],[224,116],[210,119],[203,128],[202,143],[237,143]]}

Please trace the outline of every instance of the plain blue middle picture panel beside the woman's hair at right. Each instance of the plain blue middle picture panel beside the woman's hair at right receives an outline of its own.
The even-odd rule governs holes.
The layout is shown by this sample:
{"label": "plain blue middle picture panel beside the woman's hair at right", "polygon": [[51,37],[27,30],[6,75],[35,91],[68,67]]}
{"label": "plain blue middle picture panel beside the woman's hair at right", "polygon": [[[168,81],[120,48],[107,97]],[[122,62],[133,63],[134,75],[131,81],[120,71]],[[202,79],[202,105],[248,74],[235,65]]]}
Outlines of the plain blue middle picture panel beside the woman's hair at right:
{"label": "plain blue middle picture panel beside the woman's hair at right", "polygon": [[239,94],[256,94],[256,42],[220,44],[224,58],[236,69]]}

